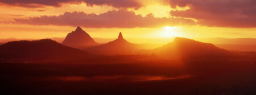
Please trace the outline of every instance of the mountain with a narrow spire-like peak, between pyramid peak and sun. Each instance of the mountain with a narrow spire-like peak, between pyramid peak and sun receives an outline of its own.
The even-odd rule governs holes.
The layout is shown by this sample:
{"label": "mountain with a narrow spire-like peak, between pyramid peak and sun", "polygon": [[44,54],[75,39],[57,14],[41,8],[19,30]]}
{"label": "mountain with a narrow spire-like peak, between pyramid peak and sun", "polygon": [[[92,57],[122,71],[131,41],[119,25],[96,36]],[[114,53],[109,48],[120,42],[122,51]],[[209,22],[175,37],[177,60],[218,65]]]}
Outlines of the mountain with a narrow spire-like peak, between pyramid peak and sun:
{"label": "mountain with a narrow spire-like peak, between pyramid peak and sun", "polygon": [[123,39],[123,35],[119,32],[118,39],[112,42],[101,44],[92,48],[85,49],[85,51],[100,54],[100,55],[131,55],[138,51],[138,45],[127,42]]}

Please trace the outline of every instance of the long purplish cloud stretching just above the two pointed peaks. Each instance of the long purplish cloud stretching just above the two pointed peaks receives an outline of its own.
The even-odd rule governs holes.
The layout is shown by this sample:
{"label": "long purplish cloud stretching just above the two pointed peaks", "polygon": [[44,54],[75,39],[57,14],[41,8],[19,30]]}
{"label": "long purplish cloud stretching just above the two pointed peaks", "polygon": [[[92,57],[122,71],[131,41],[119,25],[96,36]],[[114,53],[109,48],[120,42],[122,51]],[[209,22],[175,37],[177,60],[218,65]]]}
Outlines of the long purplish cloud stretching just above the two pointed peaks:
{"label": "long purplish cloud stretching just above the two pointed peaks", "polygon": [[103,14],[86,14],[84,12],[66,12],[57,16],[37,16],[28,19],[14,19],[14,23],[34,25],[82,26],[88,28],[133,28],[133,27],[163,27],[192,25],[195,22],[183,18],[155,18],[154,15],[136,15],[132,11],[108,11]]}

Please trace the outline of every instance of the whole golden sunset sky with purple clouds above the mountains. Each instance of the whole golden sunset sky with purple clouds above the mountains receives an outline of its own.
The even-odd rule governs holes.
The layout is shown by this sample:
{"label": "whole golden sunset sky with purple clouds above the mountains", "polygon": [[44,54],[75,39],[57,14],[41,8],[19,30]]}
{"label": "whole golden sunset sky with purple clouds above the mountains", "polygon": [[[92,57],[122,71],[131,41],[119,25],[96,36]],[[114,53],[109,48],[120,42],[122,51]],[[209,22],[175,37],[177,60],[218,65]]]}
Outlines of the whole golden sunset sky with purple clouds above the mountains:
{"label": "whole golden sunset sky with purple clouds above the mountains", "polygon": [[256,38],[254,0],[0,0],[0,38]]}

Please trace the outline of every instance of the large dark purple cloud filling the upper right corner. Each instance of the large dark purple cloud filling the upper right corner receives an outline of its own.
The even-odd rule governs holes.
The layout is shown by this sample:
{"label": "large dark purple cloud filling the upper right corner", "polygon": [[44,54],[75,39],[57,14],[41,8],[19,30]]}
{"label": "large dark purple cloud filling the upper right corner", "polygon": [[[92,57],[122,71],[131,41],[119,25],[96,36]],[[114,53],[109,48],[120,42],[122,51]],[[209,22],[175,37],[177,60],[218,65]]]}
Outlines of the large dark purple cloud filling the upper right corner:
{"label": "large dark purple cloud filling the upper right corner", "polygon": [[189,10],[171,11],[172,16],[197,19],[203,26],[256,27],[254,0],[165,0],[172,8],[189,6]]}

